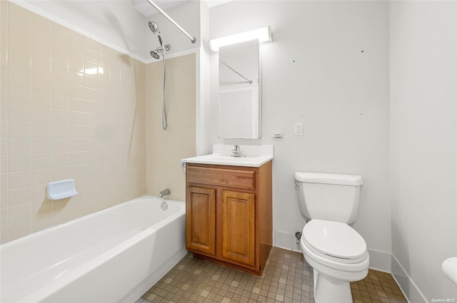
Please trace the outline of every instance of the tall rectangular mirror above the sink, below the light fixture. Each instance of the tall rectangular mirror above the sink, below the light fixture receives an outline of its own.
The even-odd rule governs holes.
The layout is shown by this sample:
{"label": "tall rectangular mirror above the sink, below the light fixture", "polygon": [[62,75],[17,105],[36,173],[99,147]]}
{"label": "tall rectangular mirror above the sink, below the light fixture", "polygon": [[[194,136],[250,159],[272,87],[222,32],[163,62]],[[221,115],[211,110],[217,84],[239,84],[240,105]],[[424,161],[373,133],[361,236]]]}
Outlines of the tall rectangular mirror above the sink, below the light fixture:
{"label": "tall rectangular mirror above the sink, below the light fixture", "polygon": [[219,138],[261,138],[258,40],[219,48]]}

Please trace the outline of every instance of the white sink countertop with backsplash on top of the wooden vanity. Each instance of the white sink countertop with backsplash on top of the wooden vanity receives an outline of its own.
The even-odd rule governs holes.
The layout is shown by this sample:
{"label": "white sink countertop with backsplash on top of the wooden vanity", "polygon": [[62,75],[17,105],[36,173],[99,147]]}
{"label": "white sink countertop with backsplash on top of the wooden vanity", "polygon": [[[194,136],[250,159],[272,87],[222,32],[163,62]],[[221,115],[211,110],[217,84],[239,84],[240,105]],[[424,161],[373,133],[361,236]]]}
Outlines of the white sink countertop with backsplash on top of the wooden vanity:
{"label": "white sink countertop with backsplash on top of the wooden vanity", "polygon": [[[229,146],[229,150],[233,148],[233,145],[215,145],[213,153],[182,159],[181,162],[258,168],[273,159],[273,145],[241,145],[241,152],[243,152],[243,155],[246,155],[246,157],[231,157],[229,153],[224,154],[223,152],[226,150],[226,146]],[[252,148],[253,146],[258,146],[258,150]],[[265,146],[271,146],[271,148],[264,148]],[[246,150],[246,152],[244,152],[244,150]],[[218,153],[214,153],[215,151]]]}

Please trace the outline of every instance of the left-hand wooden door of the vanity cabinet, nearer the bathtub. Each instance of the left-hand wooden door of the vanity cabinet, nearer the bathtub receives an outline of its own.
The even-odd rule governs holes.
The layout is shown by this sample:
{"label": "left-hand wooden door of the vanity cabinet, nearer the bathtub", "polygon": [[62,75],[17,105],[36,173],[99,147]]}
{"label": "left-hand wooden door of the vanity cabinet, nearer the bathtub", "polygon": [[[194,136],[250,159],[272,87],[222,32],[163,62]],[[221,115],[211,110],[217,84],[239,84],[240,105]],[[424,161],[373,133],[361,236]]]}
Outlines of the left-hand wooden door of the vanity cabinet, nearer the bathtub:
{"label": "left-hand wooden door of the vanity cabinet, nearer the bathtub", "polygon": [[186,198],[186,249],[216,252],[216,190],[189,187]]}

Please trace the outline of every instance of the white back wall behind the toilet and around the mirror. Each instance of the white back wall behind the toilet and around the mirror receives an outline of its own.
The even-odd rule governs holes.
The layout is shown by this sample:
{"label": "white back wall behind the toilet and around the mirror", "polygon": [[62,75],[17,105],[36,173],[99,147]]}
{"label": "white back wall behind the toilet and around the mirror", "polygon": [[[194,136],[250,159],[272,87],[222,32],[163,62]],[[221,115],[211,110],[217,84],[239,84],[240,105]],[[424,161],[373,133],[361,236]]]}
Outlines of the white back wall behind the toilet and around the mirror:
{"label": "white back wall behind the toilet and around the mirror", "polygon": [[[385,1],[233,1],[210,9],[211,38],[267,25],[273,32],[262,46],[263,138],[218,138],[213,81],[211,140],[274,145],[276,246],[297,249],[293,234],[304,225],[294,171],[360,174],[354,227],[371,267],[390,271],[388,14]],[[211,64],[214,79],[216,55]],[[303,137],[293,136],[294,122],[303,122]],[[275,132],[283,139],[271,138]]]}

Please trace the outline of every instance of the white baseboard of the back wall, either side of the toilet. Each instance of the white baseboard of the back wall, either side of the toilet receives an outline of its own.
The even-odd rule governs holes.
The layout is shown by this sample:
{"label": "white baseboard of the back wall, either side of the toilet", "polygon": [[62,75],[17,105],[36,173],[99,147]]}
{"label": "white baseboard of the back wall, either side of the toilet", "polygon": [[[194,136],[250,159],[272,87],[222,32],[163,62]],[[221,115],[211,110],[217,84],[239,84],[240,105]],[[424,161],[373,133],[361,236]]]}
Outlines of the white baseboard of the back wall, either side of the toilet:
{"label": "white baseboard of the back wall, either side of the toilet", "polygon": [[[293,252],[302,252],[300,244],[297,244],[295,234],[281,230],[273,230],[273,246]],[[368,250],[368,254],[370,254],[371,269],[391,273],[391,254],[379,250]]]}

